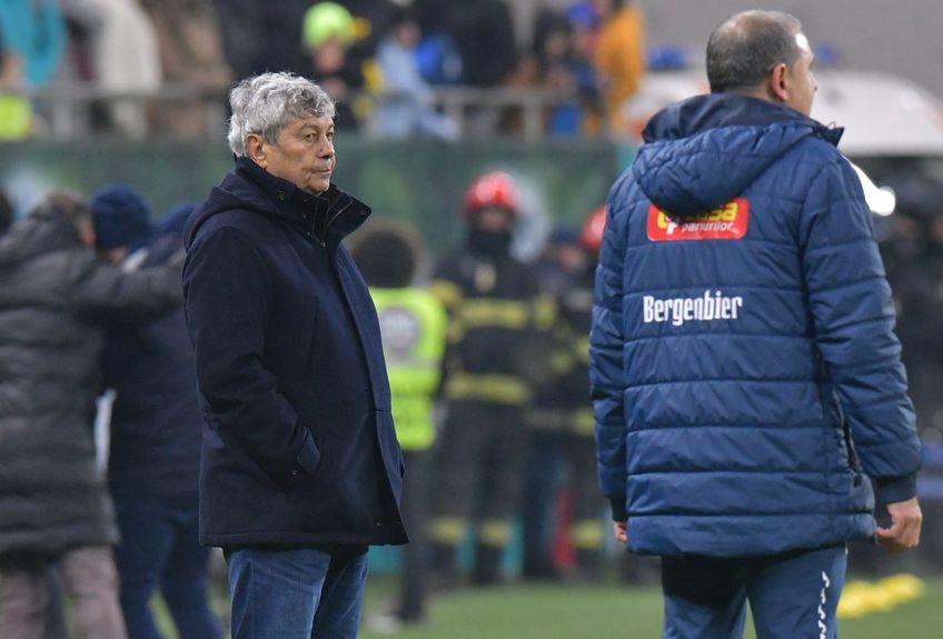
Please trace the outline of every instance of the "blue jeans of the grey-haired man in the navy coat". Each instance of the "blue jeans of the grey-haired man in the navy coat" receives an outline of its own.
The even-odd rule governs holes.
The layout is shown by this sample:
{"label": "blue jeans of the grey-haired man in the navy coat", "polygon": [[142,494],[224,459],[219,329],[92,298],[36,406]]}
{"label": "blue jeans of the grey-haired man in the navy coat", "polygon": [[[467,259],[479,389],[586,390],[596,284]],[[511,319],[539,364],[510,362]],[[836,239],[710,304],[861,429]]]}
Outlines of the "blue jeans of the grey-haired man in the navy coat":
{"label": "blue jeans of the grey-haired man in the navy coat", "polygon": [[232,639],[356,638],[367,547],[231,548]]}

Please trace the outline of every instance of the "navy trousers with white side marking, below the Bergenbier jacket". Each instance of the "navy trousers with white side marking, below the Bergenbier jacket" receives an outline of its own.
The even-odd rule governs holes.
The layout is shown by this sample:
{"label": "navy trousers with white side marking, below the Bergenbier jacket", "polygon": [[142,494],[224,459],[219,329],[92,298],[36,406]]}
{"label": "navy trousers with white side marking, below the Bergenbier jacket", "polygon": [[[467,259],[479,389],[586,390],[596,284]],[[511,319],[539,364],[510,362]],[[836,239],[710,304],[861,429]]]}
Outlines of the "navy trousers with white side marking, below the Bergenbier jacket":
{"label": "navy trousers with white side marking, below the Bergenbier jacket", "polygon": [[746,605],[758,639],[835,639],[844,546],[770,557],[662,558],[664,639],[741,639]]}

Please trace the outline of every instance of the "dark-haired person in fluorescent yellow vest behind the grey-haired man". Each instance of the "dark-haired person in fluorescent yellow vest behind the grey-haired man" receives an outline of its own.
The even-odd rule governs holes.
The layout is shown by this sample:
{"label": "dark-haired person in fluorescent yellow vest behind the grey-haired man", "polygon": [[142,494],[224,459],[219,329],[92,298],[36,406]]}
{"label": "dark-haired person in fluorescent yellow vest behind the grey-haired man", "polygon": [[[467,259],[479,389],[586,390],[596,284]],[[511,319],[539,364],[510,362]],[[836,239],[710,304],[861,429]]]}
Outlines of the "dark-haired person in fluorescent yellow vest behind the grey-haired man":
{"label": "dark-haired person in fluorescent yellow vest behind the grey-haired man", "polygon": [[398,601],[371,622],[379,632],[425,619],[427,458],[436,433],[434,398],[441,377],[447,317],[438,298],[415,286],[421,248],[415,231],[395,222],[371,223],[350,246],[377,307],[396,437],[409,468],[400,511],[410,542],[400,562]]}

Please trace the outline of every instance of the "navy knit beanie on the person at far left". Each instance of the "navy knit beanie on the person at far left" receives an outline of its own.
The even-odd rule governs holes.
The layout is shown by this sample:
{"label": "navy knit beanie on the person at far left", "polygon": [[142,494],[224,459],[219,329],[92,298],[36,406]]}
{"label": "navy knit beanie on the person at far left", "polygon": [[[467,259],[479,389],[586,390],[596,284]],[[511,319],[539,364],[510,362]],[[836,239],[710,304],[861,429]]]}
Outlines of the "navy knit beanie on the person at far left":
{"label": "navy knit beanie on the person at far left", "polygon": [[95,214],[96,249],[109,261],[121,262],[148,242],[151,209],[133,187],[109,184],[99,189],[89,207]]}

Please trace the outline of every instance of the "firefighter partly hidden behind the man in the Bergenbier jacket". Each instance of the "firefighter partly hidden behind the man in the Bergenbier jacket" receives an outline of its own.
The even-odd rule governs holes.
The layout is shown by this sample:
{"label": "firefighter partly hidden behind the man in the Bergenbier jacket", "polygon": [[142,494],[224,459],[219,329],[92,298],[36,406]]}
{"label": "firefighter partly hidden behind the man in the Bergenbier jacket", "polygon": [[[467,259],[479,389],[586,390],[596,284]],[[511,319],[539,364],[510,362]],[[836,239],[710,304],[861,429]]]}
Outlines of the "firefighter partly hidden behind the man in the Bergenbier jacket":
{"label": "firefighter partly hidden behind the man in the Bergenbier jacket", "polygon": [[[528,578],[599,578],[605,502],[596,486],[588,349],[593,274],[604,223],[600,207],[580,230],[557,229],[538,262],[542,289],[554,298],[557,312],[549,340],[550,376],[535,395],[527,420],[523,525],[524,576]],[[557,518],[554,506],[560,491],[568,497],[564,502],[568,508]],[[557,519],[563,521],[556,523]],[[557,531],[558,526],[563,530]],[[573,552],[573,566],[554,561],[552,542],[560,536]]]}

